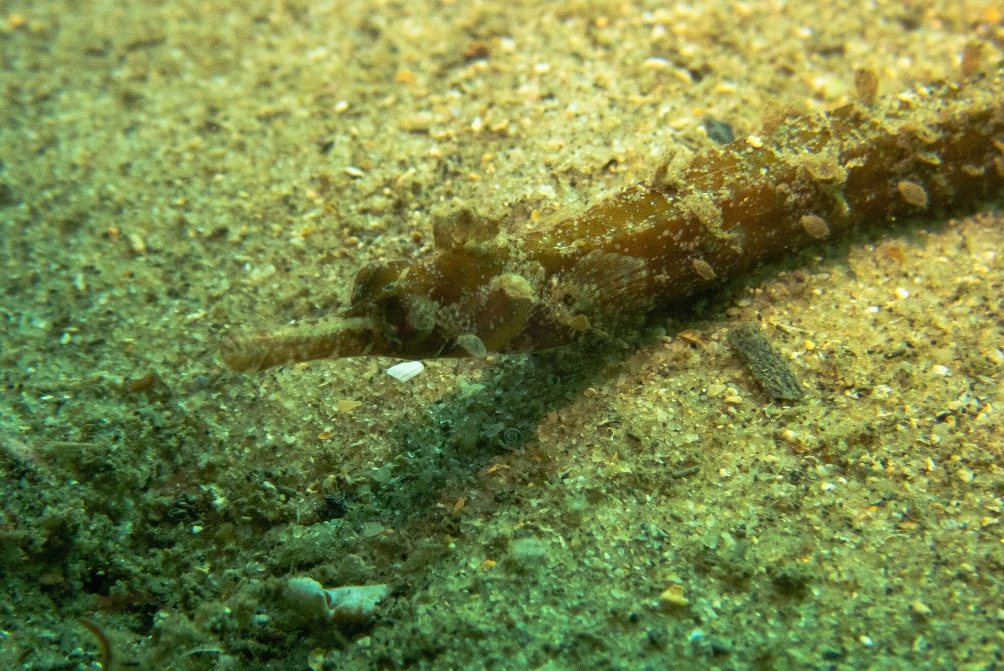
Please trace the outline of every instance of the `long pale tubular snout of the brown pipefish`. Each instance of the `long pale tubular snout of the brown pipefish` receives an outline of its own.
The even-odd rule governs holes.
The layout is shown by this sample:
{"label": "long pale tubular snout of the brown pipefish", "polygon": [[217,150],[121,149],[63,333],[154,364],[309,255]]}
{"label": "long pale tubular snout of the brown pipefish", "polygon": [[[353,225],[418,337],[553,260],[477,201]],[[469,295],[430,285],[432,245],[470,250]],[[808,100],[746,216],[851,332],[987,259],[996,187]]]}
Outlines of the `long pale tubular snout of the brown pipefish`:
{"label": "long pale tubular snout of the brown pipefish", "polygon": [[384,354],[372,321],[364,316],[335,316],[312,324],[256,333],[225,333],[220,359],[233,371],[262,371],[273,366]]}

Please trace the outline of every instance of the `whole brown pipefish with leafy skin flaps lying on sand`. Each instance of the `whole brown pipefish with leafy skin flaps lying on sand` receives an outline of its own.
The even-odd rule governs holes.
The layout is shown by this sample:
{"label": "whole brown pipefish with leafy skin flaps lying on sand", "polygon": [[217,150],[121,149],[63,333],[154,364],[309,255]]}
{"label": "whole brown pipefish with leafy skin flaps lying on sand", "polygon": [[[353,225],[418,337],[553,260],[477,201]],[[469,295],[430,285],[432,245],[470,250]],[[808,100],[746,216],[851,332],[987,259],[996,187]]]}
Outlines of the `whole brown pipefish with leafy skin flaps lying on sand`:
{"label": "whole brown pipefish with leafy skin flaps lying on sand", "polygon": [[[765,127],[767,125],[765,124]],[[418,261],[370,263],[322,323],[227,333],[237,371],[329,357],[541,351],[606,332],[761,260],[1004,185],[1001,75],[778,117],[521,237],[462,212]]]}

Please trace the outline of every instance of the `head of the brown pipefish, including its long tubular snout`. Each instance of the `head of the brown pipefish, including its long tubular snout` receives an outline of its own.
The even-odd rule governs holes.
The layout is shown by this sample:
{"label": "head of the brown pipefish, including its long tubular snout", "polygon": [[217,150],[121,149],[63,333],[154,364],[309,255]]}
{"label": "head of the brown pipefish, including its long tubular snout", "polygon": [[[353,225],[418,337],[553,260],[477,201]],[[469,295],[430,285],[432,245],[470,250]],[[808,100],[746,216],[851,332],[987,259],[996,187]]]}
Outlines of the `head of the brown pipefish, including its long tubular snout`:
{"label": "head of the brown pipefish, including its long tubular snout", "polygon": [[[493,253],[494,252],[494,253]],[[419,261],[381,261],[355,275],[348,307],[315,323],[227,334],[236,371],[343,357],[419,360],[515,351],[535,305],[530,282],[495,249],[449,250]]]}

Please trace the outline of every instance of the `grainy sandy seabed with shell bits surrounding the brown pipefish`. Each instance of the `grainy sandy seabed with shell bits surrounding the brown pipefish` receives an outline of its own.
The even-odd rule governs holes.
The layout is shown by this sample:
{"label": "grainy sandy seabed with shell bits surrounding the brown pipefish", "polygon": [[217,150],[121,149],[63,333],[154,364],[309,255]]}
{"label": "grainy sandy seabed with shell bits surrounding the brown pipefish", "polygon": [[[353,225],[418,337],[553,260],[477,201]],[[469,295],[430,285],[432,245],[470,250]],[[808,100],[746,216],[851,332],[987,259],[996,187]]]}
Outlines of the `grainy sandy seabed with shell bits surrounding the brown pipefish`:
{"label": "grainy sandy seabed with shell bits surrounding the brown pipefish", "polygon": [[[532,226],[974,43],[994,71],[1004,8],[0,4],[0,667],[999,667],[994,216],[876,222],[626,350],[216,356],[437,216]],[[329,622],[301,577],[390,595]]]}

